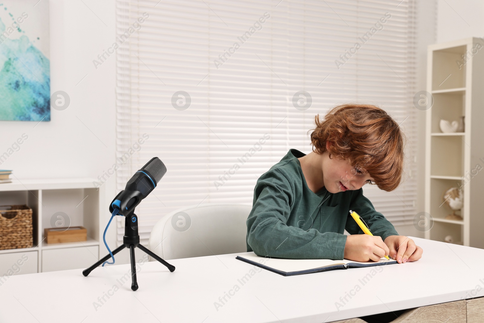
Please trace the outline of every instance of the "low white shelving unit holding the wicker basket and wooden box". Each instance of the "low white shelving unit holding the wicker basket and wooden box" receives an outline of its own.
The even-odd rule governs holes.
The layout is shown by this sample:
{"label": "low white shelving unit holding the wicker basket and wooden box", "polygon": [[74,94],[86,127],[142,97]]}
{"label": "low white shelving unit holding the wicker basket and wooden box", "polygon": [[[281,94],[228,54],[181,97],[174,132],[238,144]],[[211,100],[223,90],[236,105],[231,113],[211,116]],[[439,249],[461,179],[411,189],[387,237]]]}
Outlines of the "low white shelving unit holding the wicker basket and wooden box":
{"label": "low white shelving unit holding the wicker basket and wooden box", "polygon": [[[99,244],[103,243],[100,205],[104,187],[95,188],[93,179],[13,179],[0,185],[0,205],[27,204],[32,209],[33,246],[0,250],[0,283],[12,272],[30,274],[54,270],[87,268],[99,260]],[[87,229],[87,241],[47,244],[44,229],[55,227],[51,218],[65,213],[70,226]],[[57,219],[57,216],[56,216]],[[27,260],[26,260],[27,259]],[[10,273],[10,274],[9,274]]]}

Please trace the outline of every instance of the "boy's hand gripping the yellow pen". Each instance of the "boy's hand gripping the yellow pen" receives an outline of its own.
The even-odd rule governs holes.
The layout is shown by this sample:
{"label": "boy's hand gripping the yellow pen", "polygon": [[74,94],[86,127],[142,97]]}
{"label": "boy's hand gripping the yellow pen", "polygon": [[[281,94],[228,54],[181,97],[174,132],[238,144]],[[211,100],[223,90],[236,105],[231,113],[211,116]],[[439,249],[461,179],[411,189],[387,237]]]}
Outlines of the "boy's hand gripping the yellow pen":
{"label": "boy's hand gripping the yellow pen", "polygon": [[390,253],[380,236],[351,234],[346,238],[345,259],[352,261],[379,261]]}

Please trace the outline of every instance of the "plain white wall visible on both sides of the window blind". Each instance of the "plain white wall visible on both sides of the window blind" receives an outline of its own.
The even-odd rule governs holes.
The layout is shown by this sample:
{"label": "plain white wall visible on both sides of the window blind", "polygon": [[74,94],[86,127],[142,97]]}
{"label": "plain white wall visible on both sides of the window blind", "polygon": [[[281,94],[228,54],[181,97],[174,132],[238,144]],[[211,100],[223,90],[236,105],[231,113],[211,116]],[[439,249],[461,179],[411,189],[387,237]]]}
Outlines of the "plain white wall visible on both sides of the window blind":
{"label": "plain white wall visible on both sides of the window blind", "polygon": [[[63,111],[52,109],[51,121],[42,122],[35,128],[36,122],[0,121],[0,154],[22,133],[29,135],[20,151],[1,165],[2,169],[13,169],[19,179],[97,178],[115,162],[116,58],[109,57],[97,70],[92,63],[114,41],[115,0],[84,0],[84,3],[49,1],[51,92],[67,92],[71,98],[69,108]],[[436,34],[437,42],[484,36],[483,10],[484,2],[478,0],[464,3],[438,0],[437,8],[435,0],[417,1],[417,91],[425,89],[426,46],[436,42]],[[424,138],[423,114],[418,120],[419,136]],[[419,178],[418,196],[423,197],[423,140],[419,143],[416,147],[419,164],[416,176]],[[107,223],[109,202],[117,194],[115,176],[105,186],[106,210],[103,212],[106,212],[103,215]],[[417,209],[423,211],[423,198],[417,201]],[[112,223],[106,239],[111,249],[116,247],[114,226]],[[396,229],[403,235],[423,236],[411,224]],[[107,253],[104,244],[101,250],[101,254]],[[136,258],[140,259],[142,255],[137,249]],[[116,256],[116,263],[127,262],[127,251]]]}

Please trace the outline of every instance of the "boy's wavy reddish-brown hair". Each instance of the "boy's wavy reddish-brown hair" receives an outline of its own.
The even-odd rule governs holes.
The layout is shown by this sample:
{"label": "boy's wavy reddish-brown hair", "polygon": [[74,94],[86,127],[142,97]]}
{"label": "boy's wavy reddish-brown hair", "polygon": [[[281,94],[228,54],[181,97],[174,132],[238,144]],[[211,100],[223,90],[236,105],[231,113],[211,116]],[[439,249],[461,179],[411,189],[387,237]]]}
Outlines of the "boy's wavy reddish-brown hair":
{"label": "boy's wavy reddish-brown hair", "polygon": [[330,158],[348,158],[353,167],[364,169],[387,192],[400,185],[404,135],[385,110],[373,105],[344,104],[332,108],[323,121],[319,121],[319,114],[314,119],[311,144],[315,153],[328,150]]}

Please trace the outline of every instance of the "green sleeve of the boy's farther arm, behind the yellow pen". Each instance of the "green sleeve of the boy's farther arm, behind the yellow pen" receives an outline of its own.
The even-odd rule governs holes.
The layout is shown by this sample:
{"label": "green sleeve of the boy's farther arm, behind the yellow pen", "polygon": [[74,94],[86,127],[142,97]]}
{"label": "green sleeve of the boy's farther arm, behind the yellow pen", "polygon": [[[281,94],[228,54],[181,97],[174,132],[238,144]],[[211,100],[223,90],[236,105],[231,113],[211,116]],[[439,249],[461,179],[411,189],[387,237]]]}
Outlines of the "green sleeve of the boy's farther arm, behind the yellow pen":
{"label": "green sleeve of the boy's farther arm, behind the yellow pen", "polygon": [[[351,199],[349,209],[355,211],[364,220],[373,235],[378,235],[383,241],[390,235],[398,235],[398,232],[393,227],[393,224],[388,221],[385,216],[375,211],[373,204],[366,197],[363,196],[363,188],[355,191]],[[356,221],[348,213],[346,221],[346,231],[349,234],[363,234]]]}

